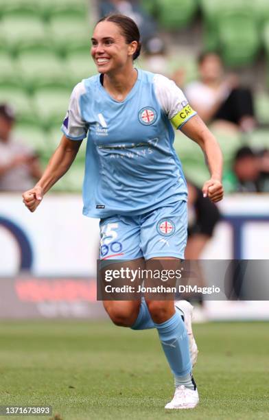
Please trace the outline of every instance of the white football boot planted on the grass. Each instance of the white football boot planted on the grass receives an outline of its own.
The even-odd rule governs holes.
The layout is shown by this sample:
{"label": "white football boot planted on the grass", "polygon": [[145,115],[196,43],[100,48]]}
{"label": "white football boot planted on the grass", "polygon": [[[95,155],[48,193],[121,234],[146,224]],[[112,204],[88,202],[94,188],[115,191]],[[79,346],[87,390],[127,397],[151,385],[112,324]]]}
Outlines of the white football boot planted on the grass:
{"label": "white football boot planted on the grass", "polygon": [[167,410],[185,410],[187,408],[194,408],[199,402],[198,390],[186,388],[184,385],[177,386],[174,398],[165,408]]}

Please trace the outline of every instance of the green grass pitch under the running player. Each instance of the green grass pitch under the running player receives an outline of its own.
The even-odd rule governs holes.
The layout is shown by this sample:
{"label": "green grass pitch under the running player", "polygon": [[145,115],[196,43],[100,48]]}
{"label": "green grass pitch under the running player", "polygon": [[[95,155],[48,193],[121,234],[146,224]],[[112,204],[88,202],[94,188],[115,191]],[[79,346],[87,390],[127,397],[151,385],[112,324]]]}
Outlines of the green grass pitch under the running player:
{"label": "green grass pitch under the running player", "polygon": [[200,405],[165,412],[174,389],[156,331],[105,321],[1,321],[0,405],[51,405],[53,418],[64,420],[268,419],[268,323],[194,331]]}

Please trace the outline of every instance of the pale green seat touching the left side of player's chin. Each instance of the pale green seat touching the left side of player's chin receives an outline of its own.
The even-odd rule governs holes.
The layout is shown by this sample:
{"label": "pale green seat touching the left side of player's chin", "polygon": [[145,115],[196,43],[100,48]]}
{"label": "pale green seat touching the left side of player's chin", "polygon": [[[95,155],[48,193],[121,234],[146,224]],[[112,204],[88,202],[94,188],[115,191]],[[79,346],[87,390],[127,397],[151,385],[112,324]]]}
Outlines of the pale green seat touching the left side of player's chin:
{"label": "pale green seat touching the left side of player's chin", "polygon": [[70,53],[66,58],[65,71],[71,75],[73,84],[80,82],[82,79],[91,77],[97,73],[95,63],[91,58],[89,51],[84,53]]}

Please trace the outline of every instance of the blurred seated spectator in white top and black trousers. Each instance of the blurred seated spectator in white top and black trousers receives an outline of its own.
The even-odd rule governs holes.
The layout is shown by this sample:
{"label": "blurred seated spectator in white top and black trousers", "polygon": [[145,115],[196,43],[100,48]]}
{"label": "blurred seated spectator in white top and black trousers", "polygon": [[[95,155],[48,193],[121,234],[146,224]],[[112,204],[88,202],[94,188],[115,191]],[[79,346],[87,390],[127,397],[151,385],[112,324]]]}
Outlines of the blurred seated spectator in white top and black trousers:
{"label": "blurred seated spectator in white top and black trousers", "polygon": [[239,86],[236,75],[224,75],[218,54],[204,53],[198,59],[200,80],[185,86],[186,96],[206,123],[248,132],[255,128],[253,97]]}

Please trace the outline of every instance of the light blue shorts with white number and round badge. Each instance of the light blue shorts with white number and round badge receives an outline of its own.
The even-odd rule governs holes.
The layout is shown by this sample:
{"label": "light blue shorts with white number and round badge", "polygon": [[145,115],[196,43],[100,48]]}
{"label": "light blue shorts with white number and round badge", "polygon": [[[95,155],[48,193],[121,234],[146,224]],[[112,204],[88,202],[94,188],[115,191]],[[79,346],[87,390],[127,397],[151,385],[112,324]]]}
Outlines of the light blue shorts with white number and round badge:
{"label": "light blue shorts with white number and round badge", "polygon": [[129,217],[113,215],[100,220],[100,259],[184,259],[187,244],[187,202]]}

